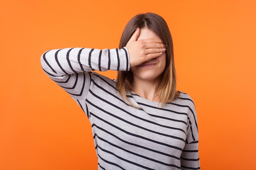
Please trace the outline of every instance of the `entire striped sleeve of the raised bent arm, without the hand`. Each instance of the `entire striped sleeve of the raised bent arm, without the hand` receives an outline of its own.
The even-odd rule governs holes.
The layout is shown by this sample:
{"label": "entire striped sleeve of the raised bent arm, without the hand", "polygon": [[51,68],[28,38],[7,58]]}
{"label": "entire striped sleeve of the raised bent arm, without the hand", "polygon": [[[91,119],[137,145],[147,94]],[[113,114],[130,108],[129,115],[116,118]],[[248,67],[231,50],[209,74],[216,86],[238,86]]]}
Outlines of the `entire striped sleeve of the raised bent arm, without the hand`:
{"label": "entire striped sleeve of the raised bent arm, without the hand", "polygon": [[69,48],[49,50],[41,56],[45,73],[74,99],[85,100],[92,80],[90,71],[128,71],[129,53],[123,49]]}

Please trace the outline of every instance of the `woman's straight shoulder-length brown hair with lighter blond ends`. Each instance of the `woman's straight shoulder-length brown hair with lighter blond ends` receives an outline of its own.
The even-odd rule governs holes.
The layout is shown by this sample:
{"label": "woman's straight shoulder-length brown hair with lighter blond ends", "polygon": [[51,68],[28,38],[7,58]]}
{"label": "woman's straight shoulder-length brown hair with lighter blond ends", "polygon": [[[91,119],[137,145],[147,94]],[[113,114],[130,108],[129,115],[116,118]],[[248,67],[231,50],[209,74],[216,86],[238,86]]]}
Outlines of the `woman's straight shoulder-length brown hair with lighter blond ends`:
{"label": "woman's straight shoulder-length brown hair with lighter blond ends", "polygon": [[[166,66],[162,72],[156,86],[156,94],[159,96],[161,106],[168,101],[176,99],[176,75],[173,57],[173,41],[168,25],[165,20],[155,13],[138,14],[133,17],[121,36],[119,49],[126,46],[132,34],[137,28],[148,28],[155,32],[164,44],[166,44]],[[133,74],[132,71],[118,71],[116,88],[119,94],[132,106],[134,106],[126,97],[126,92],[132,91]]]}

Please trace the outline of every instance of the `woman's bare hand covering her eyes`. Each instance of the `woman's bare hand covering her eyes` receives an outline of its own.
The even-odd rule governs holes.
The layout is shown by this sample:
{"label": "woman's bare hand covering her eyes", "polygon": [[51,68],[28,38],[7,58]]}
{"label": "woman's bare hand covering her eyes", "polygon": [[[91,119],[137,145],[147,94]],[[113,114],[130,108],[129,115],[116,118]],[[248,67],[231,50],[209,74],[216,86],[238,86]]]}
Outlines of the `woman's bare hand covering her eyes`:
{"label": "woman's bare hand covering her eyes", "polygon": [[165,45],[161,39],[149,38],[138,40],[140,29],[137,28],[132,37],[126,44],[130,55],[130,67],[137,66],[147,60],[162,55],[165,49]]}

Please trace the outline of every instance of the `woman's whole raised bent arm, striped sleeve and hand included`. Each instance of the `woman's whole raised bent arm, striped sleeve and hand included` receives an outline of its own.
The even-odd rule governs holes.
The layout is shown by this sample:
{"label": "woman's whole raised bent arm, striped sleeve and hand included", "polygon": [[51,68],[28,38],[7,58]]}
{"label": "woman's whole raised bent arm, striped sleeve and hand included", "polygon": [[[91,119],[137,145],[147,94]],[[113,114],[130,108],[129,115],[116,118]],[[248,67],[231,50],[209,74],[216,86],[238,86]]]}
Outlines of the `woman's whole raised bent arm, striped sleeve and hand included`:
{"label": "woman's whole raised bent arm, striped sleeve and hand included", "polygon": [[139,29],[122,49],[57,49],[45,52],[41,64],[45,73],[74,99],[84,100],[93,70],[128,71],[135,66],[162,55],[165,51],[160,39],[137,41]]}

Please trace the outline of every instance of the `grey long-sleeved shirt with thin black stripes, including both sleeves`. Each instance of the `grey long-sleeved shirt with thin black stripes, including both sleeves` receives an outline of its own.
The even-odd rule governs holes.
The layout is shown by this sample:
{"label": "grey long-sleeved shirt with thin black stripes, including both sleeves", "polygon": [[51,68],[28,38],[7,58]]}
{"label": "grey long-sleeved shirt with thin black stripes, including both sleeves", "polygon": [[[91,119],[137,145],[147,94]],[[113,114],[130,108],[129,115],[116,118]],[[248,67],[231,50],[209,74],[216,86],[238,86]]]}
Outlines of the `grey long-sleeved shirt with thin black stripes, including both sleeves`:
{"label": "grey long-sleeved shirt with thin black stripes, including both sleeves", "polygon": [[159,108],[93,70],[128,71],[128,50],[56,49],[41,56],[45,73],[79,104],[92,125],[99,170],[198,170],[198,125],[193,100],[180,92]]}

